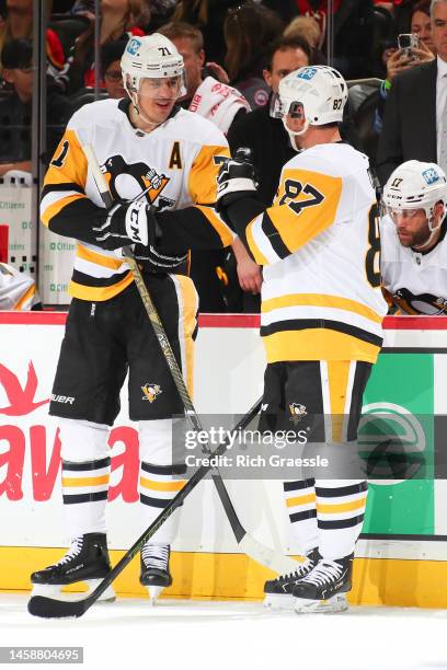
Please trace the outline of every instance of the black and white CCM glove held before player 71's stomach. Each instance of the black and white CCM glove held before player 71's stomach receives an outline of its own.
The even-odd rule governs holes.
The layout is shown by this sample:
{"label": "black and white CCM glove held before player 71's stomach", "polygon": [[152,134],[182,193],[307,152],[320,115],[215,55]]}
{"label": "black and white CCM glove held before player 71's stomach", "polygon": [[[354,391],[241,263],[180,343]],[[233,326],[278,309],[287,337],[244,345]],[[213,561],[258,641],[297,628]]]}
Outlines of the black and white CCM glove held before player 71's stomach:
{"label": "black and white CCM glove held before player 71's stomach", "polygon": [[156,244],[161,236],[152,209],[145,200],[116,203],[100,215],[93,233],[98,246],[111,251],[133,243]]}

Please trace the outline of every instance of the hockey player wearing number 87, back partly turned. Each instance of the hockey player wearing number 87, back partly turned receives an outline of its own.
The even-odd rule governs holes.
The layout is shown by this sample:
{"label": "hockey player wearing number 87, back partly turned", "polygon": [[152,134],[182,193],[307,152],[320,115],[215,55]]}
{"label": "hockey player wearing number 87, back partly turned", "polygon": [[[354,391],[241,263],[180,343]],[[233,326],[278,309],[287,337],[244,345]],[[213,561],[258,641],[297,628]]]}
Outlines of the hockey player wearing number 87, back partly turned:
{"label": "hockey player wearing number 87, back partly turned", "polygon": [[[264,210],[256,199],[247,163],[230,161],[218,177],[220,211],[264,266],[267,368],[260,428],[290,429],[300,406],[309,441],[321,440],[340,457],[355,446],[387,311],[368,159],[339,132],[346,99],[345,81],[330,67],[300,68],[280,81],[273,114],[299,152],[284,166],[272,207]],[[296,573],[265,584],[265,604],[298,612],[346,609],[367,483],[362,472],[342,470],[336,478],[320,470],[284,482],[305,559]]]}

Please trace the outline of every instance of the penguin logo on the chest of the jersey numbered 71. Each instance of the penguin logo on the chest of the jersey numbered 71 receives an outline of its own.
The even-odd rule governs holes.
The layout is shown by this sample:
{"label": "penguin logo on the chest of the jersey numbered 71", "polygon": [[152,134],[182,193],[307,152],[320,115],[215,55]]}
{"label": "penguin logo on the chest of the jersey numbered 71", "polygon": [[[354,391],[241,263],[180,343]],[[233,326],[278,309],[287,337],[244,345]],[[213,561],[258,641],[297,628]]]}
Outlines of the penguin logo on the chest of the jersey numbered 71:
{"label": "penguin logo on the chest of the jersey numbered 71", "polygon": [[[108,178],[108,188],[114,200],[129,197],[128,193],[123,194],[123,187],[126,187],[126,192],[131,189],[131,197],[135,197],[139,190],[149,188],[146,199],[150,205],[156,205],[156,211],[175,205],[172,198],[161,196],[162,190],[170,182],[170,177],[163,173],[159,174],[154,168],[150,168],[142,162],[128,164],[122,155],[112,155],[105,161],[104,168],[106,171],[105,178]],[[135,185],[131,182],[135,182]]]}

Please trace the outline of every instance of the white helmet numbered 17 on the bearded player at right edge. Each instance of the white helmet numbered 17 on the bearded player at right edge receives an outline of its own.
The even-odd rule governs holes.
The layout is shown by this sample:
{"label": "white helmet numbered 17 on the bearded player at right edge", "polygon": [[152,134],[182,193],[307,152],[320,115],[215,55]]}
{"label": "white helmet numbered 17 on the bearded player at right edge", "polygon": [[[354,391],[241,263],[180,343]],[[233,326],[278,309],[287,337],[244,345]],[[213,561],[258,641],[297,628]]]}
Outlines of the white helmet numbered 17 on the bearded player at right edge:
{"label": "white helmet numbered 17 on the bearded player at right edge", "polygon": [[432,231],[440,226],[444,218],[443,215],[438,224],[434,226],[436,203],[443,204],[445,213],[447,178],[436,163],[406,161],[394,170],[383,188],[382,205],[391,219],[394,220],[396,215],[404,210],[423,209]]}

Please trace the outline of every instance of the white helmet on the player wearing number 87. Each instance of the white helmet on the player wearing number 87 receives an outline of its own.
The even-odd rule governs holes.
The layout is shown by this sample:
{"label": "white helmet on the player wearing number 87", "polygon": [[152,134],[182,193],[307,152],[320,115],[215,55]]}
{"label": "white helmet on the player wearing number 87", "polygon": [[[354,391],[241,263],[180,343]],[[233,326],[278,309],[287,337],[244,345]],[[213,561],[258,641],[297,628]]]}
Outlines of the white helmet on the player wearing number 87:
{"label": "white helmet on the player wearing number 87", "polygon": [[[280,80],[278,93],[272,100],[271,115],[283,119],[289,135],[302,135],[309,125],[342,122],[346,101],[347,85],[337,70],[329,66],[309,66]],[[290,130],[286,125],[288,115],[303,116],[303,129]]]}

